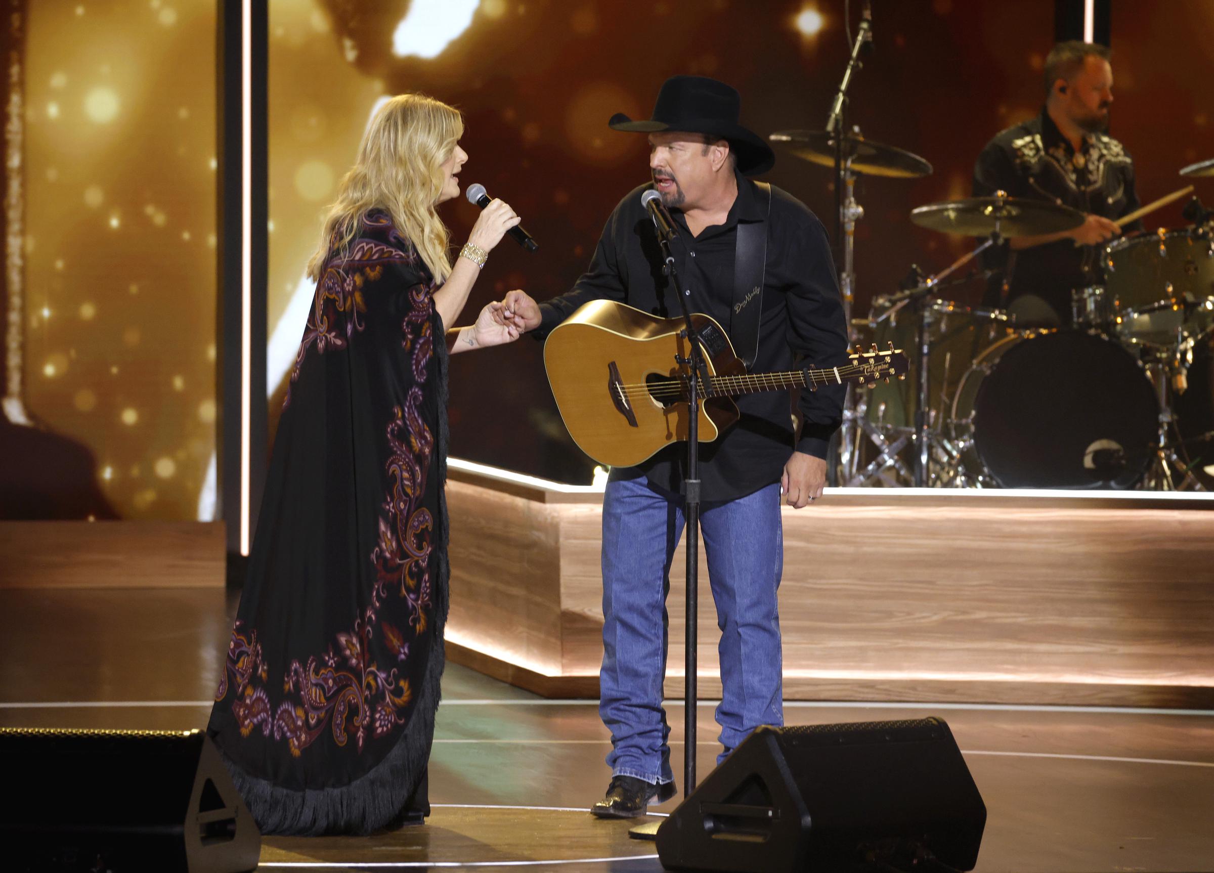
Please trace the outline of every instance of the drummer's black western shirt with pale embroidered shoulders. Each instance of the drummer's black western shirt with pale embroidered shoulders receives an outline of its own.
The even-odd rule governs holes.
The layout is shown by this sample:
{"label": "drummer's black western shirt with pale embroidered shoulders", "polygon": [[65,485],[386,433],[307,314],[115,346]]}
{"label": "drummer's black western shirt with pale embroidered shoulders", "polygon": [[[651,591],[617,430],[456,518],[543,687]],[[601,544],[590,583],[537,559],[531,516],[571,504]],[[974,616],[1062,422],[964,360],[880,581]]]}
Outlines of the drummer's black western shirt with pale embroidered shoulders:
{"label": "drummer's black western shirt with pale embroidered shoulders", "polygon": [[[1045,200],[1080,212],[1118,219],[1139,206],[1134,163],[1111,136],[1091,134],[1076,153],[1054,119],[1040,114],[1003,131],[982,149],[974,165],[974,195]],[[1131,225],[1125,229],[1138,229]],[[1009,282],[1008,301],[1026,294],[1043,297],[1063,324],[1071,322],[1071,289],[1099,284],[1100,246],[1077,246],[1060,239],[1012,253],[1006,243],[986,259]]]}

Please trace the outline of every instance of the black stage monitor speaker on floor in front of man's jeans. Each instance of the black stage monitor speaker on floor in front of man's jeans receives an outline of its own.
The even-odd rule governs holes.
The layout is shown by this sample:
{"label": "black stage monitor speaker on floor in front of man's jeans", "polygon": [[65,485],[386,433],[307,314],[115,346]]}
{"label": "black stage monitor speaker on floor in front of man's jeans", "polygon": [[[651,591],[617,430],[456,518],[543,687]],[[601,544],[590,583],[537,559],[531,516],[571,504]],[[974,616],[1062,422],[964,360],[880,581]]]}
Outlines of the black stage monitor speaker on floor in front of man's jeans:
{"label": "black stage monitor speaker on floor in front of man's jeans", "polygon": [[760,727],[657,833],[669,869],[972,869],[986,806],[940,719]]}

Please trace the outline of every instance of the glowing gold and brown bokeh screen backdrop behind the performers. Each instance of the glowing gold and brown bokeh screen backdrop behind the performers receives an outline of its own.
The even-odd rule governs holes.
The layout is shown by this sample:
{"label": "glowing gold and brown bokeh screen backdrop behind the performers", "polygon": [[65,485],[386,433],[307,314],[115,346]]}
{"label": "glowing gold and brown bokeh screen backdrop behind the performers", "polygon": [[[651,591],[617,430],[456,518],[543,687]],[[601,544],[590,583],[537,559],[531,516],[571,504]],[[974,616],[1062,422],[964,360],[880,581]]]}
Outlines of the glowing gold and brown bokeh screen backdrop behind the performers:
{"label": "glowing gold and brown bokeh screen backdrop behind the performers", "polygon": [[[47,435],[91,455],[83,475],[106,511],[209,518],[222,406],[216,2],[18,5],[27,10],[25,406]],[[873,6],[877,44],[853,84],[851,120],[924,155],[935,174],[860,183],[861,313],[912,263],[934,272],[966,249],[907,215],[969,193],[983,143],[1038,110],[1054,40],[1054,0]],[[569,288],[612,208],[648,177],[645,138],[608,130],[613,113],[647,118],[668,75],[698,73],[736,86],[743,121],[760,135],[821,127],[846,63],[843,11],[843,0],[271,0],[271,431],[311,301],[304,267],[379,100],[424,91],[459,107],[471,155],[464,183],[507,199],[540,243],[534,255],[499,246],[469,313],[510,288],[543,300]],[[1181,165],[1214,157],[1204,87],[1214,4],[1113,0],[1112,30],[1112,132],[1134,154],[1146,200],[1175,188]],[[767,178],[833,229],[828,171],[781,153]],[[1179,209],[1156,221],[1182,223]],[[477,211],[461,199],[441,215],[459,244]],[[958,296],[972,304],[965,295],[980,293]],[[592,464],[551,402],[538,344],[454,359],[450,397],[453,454],[590,480]]]}

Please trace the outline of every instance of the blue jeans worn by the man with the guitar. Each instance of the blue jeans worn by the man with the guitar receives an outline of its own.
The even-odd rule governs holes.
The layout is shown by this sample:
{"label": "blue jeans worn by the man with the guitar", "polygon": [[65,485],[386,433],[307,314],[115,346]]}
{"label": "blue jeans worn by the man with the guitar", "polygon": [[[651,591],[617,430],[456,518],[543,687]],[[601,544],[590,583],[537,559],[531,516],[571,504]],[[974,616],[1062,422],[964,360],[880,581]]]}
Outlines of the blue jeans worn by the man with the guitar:
{"label": "blue jeans worn by the man with the guitar", "polygon": [[[759,725],[784,724],[776,602],[784,560],[779,497],[775,483],[737,500],[700,504],[721,629],[716,722],[724,752],[717,764]],[[674,778],[662,682],[670,563],[682,531],[682,498],[653,488],[645,477],[607,483],[599,715],[611,731],[607,764],[613,776],[653,783]]]}

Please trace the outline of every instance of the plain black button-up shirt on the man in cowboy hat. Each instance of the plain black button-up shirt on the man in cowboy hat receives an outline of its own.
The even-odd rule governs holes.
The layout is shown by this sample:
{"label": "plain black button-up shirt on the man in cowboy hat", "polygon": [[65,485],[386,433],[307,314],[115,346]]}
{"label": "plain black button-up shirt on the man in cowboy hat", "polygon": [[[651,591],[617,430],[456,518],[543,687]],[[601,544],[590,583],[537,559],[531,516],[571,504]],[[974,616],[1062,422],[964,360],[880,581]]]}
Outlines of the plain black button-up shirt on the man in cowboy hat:
{"label": "plain black button-up shirt on the man in cowboy hat", "polygon": [[[804,356],[804,367],[845,363],[843,301],[822,222],[805,204],[775,186],[768,216],[765,198],[754,182],[742,175],[737,175],[737,182],[738,195],[725,223],[705,227],[698,237],[692,237],[680,210],[670,210],[681,231],[673,246],[675,266],[683,284],[691,288],[691,310],[715,318],[731,331],[734,350],[743,353],[747,340],[734,336],[731,327],[737,226],[770,217],[759,348],[750,372],[793,369],[795,356]],[[543,321],[534,331],[539,339],[586,301],[602,297],[662,318],[681,317],[676,290],[662,272],[653,222],[641,205],[641,193],[652,187],[643,185],[619,202],[599,239],[590,268],[571,291],[540,305]],[[716,441],[700,446],[703,499],[732,500],[778,482],[794,448],[826,458],[827,443],[843,416],[843,386],[804,390],[799,401],[804,420],[799,438],[794,437],[787,392],[734,398],[741,412],[738,423]],[[686,444],[675,443],[636,467],[617,467],[611,475],[613,478],[645,475],[658,488],[679,493],[686,454]]]}

